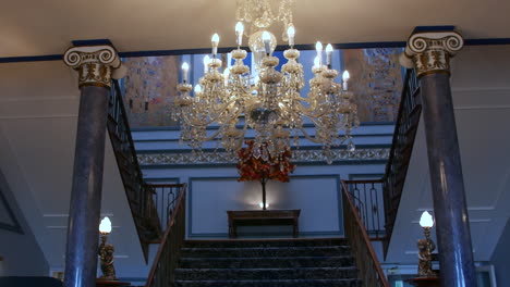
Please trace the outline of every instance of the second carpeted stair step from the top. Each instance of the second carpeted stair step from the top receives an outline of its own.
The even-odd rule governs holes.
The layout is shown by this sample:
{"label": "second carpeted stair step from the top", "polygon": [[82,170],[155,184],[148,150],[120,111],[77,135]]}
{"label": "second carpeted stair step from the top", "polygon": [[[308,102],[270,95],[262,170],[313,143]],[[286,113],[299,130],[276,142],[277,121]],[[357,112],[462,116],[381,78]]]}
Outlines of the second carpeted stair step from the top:
{"label": "second carpeted stair step from the top", "polygon": [[351,254],[348,246],[182,248],[183,258],[338,257]]}

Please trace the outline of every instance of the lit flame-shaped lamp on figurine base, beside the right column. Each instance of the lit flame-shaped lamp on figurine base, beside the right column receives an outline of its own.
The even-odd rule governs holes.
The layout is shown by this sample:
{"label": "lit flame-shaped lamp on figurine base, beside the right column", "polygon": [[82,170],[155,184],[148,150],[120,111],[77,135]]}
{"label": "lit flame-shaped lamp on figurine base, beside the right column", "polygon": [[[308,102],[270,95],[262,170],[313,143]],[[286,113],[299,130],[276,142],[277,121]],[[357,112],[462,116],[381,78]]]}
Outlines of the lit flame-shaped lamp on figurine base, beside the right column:
{"label": "lit flame-shaped lamp on figurine base, beside the right column", "polygon": [[434,219],[427,211],[424,211],[420,219],[420,225],[425,234],[425,239],[417,241],[418,248],[418,276],[420,277],[437,277],[437,274],[432,270],[432,252],[436,249],[436,245],[430,239],[430,229],[434,226]]}

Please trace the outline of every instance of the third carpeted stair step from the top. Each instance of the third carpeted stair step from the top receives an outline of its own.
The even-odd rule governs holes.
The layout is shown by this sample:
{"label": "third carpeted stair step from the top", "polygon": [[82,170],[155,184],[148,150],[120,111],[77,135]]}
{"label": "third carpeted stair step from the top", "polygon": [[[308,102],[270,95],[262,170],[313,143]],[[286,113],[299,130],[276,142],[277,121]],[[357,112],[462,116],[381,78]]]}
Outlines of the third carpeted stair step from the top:
{"label": "third carpeted stair step from the top", "polygon": [[354,266],[352,255],[341,257],[266,257],[266,258],[181,258],[182,269],[299,269]]}

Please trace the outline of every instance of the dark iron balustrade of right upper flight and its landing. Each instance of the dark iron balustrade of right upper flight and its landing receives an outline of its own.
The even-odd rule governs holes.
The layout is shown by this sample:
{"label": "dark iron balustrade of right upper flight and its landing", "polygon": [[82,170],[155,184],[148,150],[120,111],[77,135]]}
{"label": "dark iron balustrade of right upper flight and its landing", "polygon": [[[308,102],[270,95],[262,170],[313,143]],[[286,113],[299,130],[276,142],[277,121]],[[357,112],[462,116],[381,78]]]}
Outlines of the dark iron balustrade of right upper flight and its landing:
{"label": "dark iron balustrade of right upper flight and its landing", "polygon": [[385,175],[377,180],[347,180],[362,224],[371,239],[382,239],[385,255],[393,230],[414,146],[422,104],[414,70],[408,70]]}

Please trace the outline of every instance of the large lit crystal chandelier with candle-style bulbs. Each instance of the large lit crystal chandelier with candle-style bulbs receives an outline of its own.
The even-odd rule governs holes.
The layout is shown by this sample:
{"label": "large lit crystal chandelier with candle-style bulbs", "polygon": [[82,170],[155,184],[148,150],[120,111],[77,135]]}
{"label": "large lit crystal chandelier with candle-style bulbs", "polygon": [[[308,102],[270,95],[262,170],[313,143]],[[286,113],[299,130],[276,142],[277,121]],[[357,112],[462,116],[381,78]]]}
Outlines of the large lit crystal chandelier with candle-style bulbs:
{"label": "large lit crystal chandelier with candle-style bulbs", "polygon": [[[203,142],[218,139],[226,151],[235,154],[241,149],[247,130],[254,130],[254,152],[267,150],[254,157],[281,158],[286,147],[299,146],[300,132],[305,138],[323,145],[323,154],[328,163],[333,159],[331,147],[345,145],[354,151],[351,130],[359,126],[357,107],[348,90],[349,72],[344,71],[343,85],[336,83],[338,72],[331,67],[332,47],[326,47],[326,64],[323,63],[323,45],[316,43],[317,57],[312,67],[309,92],[301,96],[305,85],[303,65],[299,63],[300,51],[294,48],[295,29],[292,25],[291,4],[282,0],[277,16],[271,13],[268,0],[239,0],[235,26],[236,46],[231,51],[235,63],[222,67],[217,50],[219,36],[212,36],[212,58],[204,58],[204,76],[193,89],[189,83],[187,63],[183,63],[183,80],[178,85],[180,95],[173,103],[173,120],[181,122],[181,141],[193,150],[202,150]],[[287,27],[289,49],[283,52],[288,60],[281,72],[275,67],[279,59],[272,55],[276,37],[267,30],[274,22]],[[254,55],[257,78],[244,64],[247,51],[241,49],[244,25],[251,25],[248,46]],[[252,73],[254,74],[254,73]],[[315,134],[305,130],[305,117],[315,126]],[[218,125],[215,133],[207,126]],[[340,132],[344,130],[343,136]],[[251,132],[250,132],[251,133]],[[267,154],[269,153],[269,154]]]}

